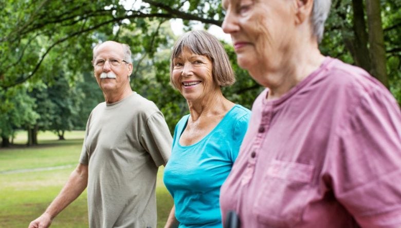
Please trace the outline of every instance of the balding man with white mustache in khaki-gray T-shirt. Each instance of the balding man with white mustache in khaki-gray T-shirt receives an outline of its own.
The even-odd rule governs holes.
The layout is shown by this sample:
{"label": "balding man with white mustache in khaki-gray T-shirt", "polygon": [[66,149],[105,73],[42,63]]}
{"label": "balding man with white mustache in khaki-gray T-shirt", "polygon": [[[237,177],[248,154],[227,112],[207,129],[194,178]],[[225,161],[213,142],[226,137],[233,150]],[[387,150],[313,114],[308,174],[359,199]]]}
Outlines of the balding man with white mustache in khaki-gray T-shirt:
{"label": "balding man with white mustache in khaki-gray T-shirt", "polygon": [[90,114],[78,167],[29,228],[50,226],[86,188],[90,227],[156,227],[156,174],[172,138],[156,105],[130,87],[130,47],[113,41],[93,50],[105,102]]}

